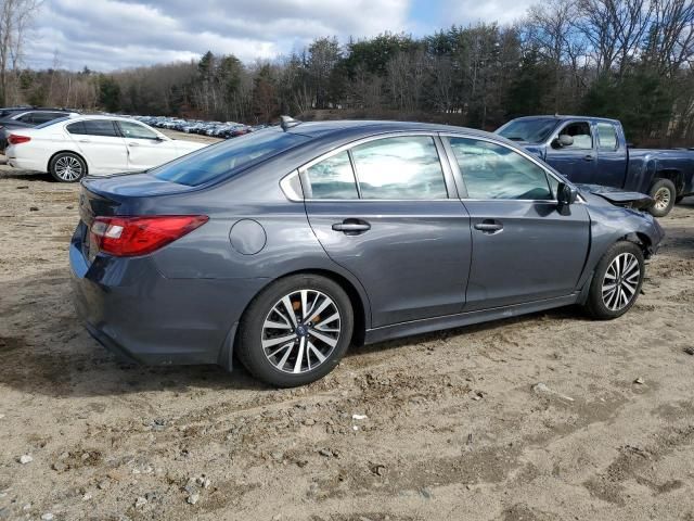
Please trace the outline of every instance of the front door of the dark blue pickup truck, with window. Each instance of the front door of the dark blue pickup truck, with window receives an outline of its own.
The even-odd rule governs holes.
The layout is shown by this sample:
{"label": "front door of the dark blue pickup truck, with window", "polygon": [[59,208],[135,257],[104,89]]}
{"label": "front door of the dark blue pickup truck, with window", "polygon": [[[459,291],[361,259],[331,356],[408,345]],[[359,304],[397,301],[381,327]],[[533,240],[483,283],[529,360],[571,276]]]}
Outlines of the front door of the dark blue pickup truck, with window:
{"label": "front door of the dark blue pickup truck, with window", "polygon": [[[573,144],[561,145],[558,138],[570,136]],[[595,140],[590,123],[574,120],[560,126],[550,140],[545,161],[574,182],[594,182]]]}

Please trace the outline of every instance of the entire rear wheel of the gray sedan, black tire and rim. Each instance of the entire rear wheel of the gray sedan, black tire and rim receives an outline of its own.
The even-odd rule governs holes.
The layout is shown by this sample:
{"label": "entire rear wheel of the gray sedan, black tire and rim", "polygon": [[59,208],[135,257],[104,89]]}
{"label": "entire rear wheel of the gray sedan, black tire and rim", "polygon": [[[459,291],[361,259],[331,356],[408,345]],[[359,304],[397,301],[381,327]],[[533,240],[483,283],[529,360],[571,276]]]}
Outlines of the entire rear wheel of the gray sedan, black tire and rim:
{"label": "entire rear wheel of the gray sedan, black tire and rim", "polygon": [[349,346],[354,310],[331,279],[297,275],[258,294],[239,325],[236,354],[257,379],[278,387],[323,378]]}

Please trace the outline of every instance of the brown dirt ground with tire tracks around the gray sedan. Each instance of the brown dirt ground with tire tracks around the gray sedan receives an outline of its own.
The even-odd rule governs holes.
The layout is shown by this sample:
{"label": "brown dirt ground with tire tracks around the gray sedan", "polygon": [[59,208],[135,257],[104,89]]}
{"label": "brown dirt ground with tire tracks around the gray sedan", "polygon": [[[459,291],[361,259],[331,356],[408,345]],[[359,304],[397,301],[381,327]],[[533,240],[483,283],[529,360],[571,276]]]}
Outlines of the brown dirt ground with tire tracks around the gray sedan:
{"label": "brown dirt ground with tire tracks around the gray sedan", "polygon": [[77,194],[0,167],[0,519],[694,521],[694,198],[616,321],[354,348],[277,391],[93,341],[70,303]]}

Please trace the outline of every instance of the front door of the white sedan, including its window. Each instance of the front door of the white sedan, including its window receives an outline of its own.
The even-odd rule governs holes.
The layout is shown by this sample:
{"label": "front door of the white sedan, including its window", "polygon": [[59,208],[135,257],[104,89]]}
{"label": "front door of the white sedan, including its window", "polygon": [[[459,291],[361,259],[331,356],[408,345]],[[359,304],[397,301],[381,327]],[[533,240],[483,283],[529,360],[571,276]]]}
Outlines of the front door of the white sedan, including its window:
{"label": "front door of the white sedan, including its window", "polygon": [[145,125],[124,120],[118,120],[117,125],[126,140],[130,170],[143,170],[178,157],[174,142]]}

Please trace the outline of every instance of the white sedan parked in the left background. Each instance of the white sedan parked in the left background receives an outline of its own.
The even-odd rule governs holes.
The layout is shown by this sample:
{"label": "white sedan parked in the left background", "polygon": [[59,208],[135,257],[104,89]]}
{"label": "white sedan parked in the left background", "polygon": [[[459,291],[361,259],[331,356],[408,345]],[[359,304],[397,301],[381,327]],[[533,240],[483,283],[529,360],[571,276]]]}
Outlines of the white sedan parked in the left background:
{"label": "white sedan parked in the left background", "polygon": [[48,171],[63,182],[78,181],[87,174],[143,170],[206,147],[114,116],[65,117],[17,128],[8,142],[5,155],[11,166]]}

